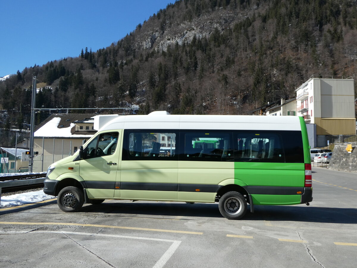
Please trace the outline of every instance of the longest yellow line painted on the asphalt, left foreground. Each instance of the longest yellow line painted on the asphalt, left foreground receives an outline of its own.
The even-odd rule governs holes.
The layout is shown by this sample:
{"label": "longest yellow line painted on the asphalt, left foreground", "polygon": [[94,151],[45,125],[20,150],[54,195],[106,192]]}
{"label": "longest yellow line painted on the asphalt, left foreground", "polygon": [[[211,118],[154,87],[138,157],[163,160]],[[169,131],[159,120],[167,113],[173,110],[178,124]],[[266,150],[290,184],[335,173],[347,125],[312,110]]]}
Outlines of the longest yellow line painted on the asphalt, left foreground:
{"label": "longest yellow line painted on the asphalt, left foreground", "polygon": [[190,231],[180,231],[180,230],[165,230],[165,229],[152,229],[152,228],[139,228],[139,227],[125,227],[125,226],[101,225],[101,224],[84,224],[84,223],[61,223],[61,222],[0,222],[0,224],[20,224],[20,225],[70,225],[70,226],[90,226],[90,227],[117,228],[117,229],[129,229],[129,230],[141,230],[141,231],[166,232],[166,233],[180,233],[180,234],[203,234],[202,232],[190,232]]}

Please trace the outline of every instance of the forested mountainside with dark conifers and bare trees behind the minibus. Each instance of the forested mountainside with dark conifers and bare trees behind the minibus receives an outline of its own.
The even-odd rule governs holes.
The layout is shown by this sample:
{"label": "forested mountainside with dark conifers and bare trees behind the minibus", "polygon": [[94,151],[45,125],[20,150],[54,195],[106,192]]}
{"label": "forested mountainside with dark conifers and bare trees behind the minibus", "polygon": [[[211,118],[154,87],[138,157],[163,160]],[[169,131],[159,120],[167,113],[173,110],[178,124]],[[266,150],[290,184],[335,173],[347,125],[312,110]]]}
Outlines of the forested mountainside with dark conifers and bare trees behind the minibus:
{"label": "forested mountainside with dark conifers and bare trees behind the minibus", "polygon": [[[176,1],[106,48],[79,48],[78,57],[49,59],[1,81],[0,128],[27,128],[33,75],[41,88],[36,108],[247,114],[295,97],[311,75],[355,78],[356,38],[352,0]],[[37,113],[36,122],[48,115]]]}

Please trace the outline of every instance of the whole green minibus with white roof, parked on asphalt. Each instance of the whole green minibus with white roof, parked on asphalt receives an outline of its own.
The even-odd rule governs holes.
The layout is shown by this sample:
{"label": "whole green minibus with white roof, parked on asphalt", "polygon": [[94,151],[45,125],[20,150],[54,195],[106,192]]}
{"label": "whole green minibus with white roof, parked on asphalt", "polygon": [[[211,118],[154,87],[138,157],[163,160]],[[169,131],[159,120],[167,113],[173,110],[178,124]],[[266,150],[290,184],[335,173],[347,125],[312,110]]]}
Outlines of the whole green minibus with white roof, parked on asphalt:
{"label": "whole green minibus with white roof, parked on asphalt", "polygon": [[94,129],[74,155],[47,170],[44,192],[57,196],[64,212],[105,199],[218,202],[224,217],[240,219],[247,204],[253,213],[255,205],[312,201],[300,116],[154,111],[96,116]]}

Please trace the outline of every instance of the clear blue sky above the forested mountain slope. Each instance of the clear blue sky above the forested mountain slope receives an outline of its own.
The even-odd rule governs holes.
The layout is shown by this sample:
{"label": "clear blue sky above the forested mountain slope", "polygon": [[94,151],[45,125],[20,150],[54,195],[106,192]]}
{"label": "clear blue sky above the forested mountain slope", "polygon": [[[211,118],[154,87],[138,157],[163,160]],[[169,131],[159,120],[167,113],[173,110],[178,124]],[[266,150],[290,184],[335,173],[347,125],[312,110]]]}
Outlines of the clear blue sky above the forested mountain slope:
{"label": "clear blue sky above the forested mountain slope", "polygon": [[110,46],[175,0],[0,0],[0,77]]}

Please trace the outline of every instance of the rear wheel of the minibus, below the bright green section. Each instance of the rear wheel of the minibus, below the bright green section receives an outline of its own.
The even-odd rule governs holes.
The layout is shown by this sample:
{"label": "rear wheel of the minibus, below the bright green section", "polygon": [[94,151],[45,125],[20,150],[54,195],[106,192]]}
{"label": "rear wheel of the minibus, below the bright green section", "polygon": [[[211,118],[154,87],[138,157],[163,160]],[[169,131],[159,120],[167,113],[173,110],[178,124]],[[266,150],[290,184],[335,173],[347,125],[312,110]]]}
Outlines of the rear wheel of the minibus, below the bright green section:
{"label": "rear wheel of the minibus, below the bright green section", "polygon": [[228,192],[222,195],[218,208],[223,217],[230,220],[237,220],[244,216],[247,211],[247,201],[238,192]]}

